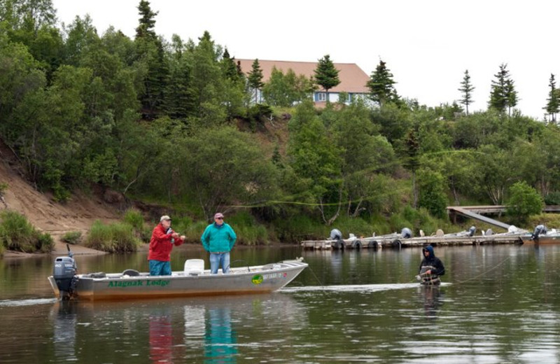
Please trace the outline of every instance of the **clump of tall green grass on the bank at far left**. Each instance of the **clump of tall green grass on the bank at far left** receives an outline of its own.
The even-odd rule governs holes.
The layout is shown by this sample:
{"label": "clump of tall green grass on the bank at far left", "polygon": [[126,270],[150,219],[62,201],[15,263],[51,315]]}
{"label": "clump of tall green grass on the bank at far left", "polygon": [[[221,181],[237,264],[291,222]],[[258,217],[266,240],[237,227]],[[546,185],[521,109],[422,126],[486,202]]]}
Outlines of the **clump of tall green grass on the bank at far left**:
{"label": "clump of tall green grass on the bank at far left", "polygon": [[0,213],[0,245],[11,251],[24,253],[52,251],[52,237],[34,228],[22,214],[6,210]]}

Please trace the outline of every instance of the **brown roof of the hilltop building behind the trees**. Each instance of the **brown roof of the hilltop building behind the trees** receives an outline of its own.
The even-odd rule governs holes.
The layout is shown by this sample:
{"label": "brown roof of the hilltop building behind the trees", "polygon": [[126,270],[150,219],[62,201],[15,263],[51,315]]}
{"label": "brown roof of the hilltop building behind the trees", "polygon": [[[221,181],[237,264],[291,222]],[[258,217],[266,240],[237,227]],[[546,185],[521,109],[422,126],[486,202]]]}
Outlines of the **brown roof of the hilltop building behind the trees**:
{"label": "brown roof of the hilltop building behind the trees", "polygon": [[[245,74],[251,72],[253,68],[253,62],[255,59],[237,59],[241,65],[241,71]],[[314,76],[315,69],[317,68],[318,62],[290,62],[290,61],[268,61],[265,59],[259,59],[258,64],[260,69],[262,69],[262,81],[267,82],[272,73],[272,68],[276,66],[276,69],[286,73],[288,69],[292,69],[297,75],[304,75],[307,78]],[[329,92],[351,92],[351,93],[369,93],[370,90],[365,85],[370,77],[358,67],[355,63],[335,63],[335,68],[339,71],[338,78],[340,80],[339,85],[332,87]]]}

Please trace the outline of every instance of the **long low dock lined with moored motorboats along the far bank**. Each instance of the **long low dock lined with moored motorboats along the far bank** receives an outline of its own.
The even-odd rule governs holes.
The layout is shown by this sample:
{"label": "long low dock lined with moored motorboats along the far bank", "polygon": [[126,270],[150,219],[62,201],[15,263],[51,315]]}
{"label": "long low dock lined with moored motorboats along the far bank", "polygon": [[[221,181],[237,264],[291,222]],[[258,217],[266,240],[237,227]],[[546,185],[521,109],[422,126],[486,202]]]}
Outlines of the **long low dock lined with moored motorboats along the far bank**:
{"label": "long low dock lined with moored motorboats along the far bank", "polygon": [[472,237],[411,237],[408,239],[376,237],[356,237],[341,240],[305,240],[301,245],[304,249],[380,249],[380,248],[409,248],[416,246],[461,246],[461,245],[490,245],[490,244],[523,244],[519,234],[475,235]]}

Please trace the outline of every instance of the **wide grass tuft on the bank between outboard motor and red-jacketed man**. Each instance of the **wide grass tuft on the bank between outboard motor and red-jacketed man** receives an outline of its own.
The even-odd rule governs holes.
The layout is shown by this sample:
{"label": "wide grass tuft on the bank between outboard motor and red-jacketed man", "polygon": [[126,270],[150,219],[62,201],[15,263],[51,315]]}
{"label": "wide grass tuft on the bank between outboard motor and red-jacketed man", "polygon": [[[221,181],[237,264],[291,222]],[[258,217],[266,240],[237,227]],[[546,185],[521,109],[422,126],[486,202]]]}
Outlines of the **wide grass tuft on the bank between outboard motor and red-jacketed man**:
{"label": "wide grass tuft on the bank between outboard motor and red-jacketed man", "polygon": [[139,244],[140,241],[134,235],[132,225],[128,223],[105,225],[101,221],[95,221],[84,245],[108,253],[128,253],[137,251]]}

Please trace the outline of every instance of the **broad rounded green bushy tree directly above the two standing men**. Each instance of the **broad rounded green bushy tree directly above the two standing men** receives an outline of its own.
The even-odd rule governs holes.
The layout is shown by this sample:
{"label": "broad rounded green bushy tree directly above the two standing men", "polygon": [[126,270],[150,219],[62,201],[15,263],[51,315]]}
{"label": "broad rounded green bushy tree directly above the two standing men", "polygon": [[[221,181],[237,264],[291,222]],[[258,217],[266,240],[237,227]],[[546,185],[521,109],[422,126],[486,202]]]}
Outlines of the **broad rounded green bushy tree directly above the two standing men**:
{"label": "broad rounded green bushy tree directly above the two standing men", "polygon": [[275,189],[275,168],[262,158],[255,139],[234,127],[200,130],[182,143],[178,160],[183,193],[200,204],[204,216],[255,204]]}

